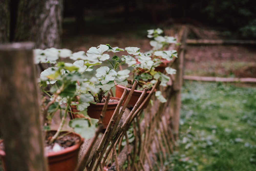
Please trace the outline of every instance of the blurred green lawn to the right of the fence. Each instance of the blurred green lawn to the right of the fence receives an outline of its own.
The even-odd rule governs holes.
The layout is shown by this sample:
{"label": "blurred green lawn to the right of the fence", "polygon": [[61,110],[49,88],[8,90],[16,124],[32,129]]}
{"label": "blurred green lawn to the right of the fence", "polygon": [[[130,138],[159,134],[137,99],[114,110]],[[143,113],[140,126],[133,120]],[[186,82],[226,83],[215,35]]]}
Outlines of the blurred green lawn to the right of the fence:
{"label": "blurred green lawn to the right of the fence", "polygon": [[256,87],[185,81],[170,170],[255,170]]}

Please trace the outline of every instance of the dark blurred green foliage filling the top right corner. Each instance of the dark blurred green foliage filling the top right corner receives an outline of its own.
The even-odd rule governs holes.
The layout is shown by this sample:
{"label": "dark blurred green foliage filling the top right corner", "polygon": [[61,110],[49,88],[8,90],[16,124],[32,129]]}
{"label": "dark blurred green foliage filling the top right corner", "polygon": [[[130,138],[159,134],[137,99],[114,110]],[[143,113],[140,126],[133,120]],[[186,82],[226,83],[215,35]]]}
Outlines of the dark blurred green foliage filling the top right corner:
{"label": "dark blurred green foliage filling the top right corner", "polygon": [[256,1],[253,0],[187,0],[186,16],[208,26],[226,28],[240,38],[256,38]]}

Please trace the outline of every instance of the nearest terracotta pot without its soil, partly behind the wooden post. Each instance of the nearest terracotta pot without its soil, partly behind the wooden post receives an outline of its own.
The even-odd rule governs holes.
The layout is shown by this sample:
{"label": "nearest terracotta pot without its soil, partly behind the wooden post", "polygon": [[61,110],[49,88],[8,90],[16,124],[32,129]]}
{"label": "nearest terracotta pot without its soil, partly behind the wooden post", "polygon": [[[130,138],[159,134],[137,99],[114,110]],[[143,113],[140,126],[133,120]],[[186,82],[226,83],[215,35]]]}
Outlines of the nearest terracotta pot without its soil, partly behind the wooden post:
{"label": "nearest terracotta pot without its soil, partly behind the wooden post", "polygon": [[[56,131],[55,131],[56,132]],[[62,132],[65,133],[65,132]],[[49,164],[49,171],[56,171],[56,170],[65,170],[65,171],[73,171],[78,163],[78,153],[80,150],[81,145],[83,144],[83,138],[76,133],[70,133],[71,136],[78,136],[80,138],[80,142],[75,144],[71,147],[67,147],[58,152],[49,152],[47,153],[48,164]],[[3,143],[3,140],[0,141],[0,145]],[[5,152],[3,149],[0,148],[0,157],[2,159],[2,164],[4,170],[5,168]]]}

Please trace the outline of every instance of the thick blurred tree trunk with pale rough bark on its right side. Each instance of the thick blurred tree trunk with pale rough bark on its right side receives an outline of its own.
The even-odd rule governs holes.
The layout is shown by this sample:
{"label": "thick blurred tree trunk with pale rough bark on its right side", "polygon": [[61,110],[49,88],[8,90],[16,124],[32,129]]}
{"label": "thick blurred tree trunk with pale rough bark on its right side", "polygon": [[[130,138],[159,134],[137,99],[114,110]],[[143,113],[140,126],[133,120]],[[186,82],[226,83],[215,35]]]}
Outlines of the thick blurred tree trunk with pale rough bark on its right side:
{"label": "thick blurred tree trunk with pale rough bark on its right side", "polygon": [[20,0],[15,41],[33,41],[35,48],[60,48],[63,0]]}

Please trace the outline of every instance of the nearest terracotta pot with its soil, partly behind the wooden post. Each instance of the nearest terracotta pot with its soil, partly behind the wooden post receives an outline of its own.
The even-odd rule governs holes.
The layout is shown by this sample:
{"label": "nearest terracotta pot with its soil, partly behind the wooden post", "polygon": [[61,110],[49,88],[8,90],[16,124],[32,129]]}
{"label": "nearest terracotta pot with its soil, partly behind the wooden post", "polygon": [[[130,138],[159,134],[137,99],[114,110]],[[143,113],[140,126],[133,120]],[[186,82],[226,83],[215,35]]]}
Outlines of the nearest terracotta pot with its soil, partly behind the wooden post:
{"label": "nearest terracotta pot with its soil, partly behind the wooden post", "polygon": [[[56,131],[49,131],[49,134],[46,136],[46,142],[49,141],[49,139],[55,134],[55,132]],[[56,152],[54,152],[55,150],[52,151],[51,147],[53,147],[55,143],[53,145],[45,147],[47,149],[50,149],[49,152],[47,152],[49,170],[73,171],[78,163],[78,153],[83,143],[83,138],[79,134],[73,132],[61,132],[61,135],[63,136],[59,136],[55,143],[59,144],[59,146],[63,147],[63,149]],[[3,140],[0,141],[0,157],[2,159],[4,170],[7,170],[7,168],[5,168],[5,152]]]}

